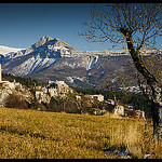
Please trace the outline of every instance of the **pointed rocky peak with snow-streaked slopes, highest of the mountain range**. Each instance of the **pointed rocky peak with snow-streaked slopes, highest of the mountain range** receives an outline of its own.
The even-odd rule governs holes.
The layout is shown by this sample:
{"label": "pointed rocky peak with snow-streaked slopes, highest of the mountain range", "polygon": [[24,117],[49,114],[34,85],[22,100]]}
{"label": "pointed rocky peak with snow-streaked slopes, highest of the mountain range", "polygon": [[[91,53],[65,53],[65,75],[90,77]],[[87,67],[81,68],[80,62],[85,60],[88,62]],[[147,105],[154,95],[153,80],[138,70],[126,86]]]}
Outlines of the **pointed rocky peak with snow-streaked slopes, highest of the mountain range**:
{"label": "pointed rocky peak with snow-streaked slopes, highest of the mountain range", "polygon": [[[52,64],[58,62],[62,57],[60,53],[63,55],[69,54],[70,49],[75,50],[57,38],[53,39],[45,36],[25,50],[5,53],[5,55],[3,55],[4,57],[1,57],[1,60],[5,60],[6,63],[4,64],[4,71],[10,70],[11,73],[26,76],[37,68],[48,68]],[[16,60],[19,62],[18,65]],[[10,68],[10,65],[14,62],[16,62],[16,66]]]}

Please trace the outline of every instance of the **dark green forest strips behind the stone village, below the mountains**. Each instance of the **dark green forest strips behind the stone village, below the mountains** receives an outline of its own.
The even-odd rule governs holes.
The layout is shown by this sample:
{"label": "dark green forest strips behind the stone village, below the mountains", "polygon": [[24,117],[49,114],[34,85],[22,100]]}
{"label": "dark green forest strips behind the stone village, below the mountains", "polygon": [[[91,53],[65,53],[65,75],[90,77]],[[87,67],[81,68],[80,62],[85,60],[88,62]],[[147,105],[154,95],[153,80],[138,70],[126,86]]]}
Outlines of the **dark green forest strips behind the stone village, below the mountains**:
{"label": "dark green forest strips behind the stone village, below the mountains", "polygon": [[[16,77],[16,76],[12,76],[12,75],[8,75],[8,73],[2,73],[3,80],[9,80],[9,81],[16,81],[19,82],[23,85],[26,85],[27,87],[30,87],[31,90],[33,90],[35,85],[48,85],[46,82],[42,81],[39,82],[36,79],[31,79],[31,78],[26,78],[26,77]],[[108,90],[97,90],[97,89],[82,89],[82,87],[75,87],[72,86],[72,89],[77,92],[77,93],[82,93],[84,95],[86,94],[103,94],[105,97],[105,100],[107,99],[114,99],[113,98],[113,94],[112,92],[108,91]],[[139,109],[139,110],[144,110],[146,113],[147,118],[151,118],[151,109],[150,109],[150,103],[149,100],[143,95],[143,94],[135,94],[135,93],[129,93],[129,92],[116,92],[116,96],[118,102],[121,105],[131,105],[134,107],[134,109]]]}

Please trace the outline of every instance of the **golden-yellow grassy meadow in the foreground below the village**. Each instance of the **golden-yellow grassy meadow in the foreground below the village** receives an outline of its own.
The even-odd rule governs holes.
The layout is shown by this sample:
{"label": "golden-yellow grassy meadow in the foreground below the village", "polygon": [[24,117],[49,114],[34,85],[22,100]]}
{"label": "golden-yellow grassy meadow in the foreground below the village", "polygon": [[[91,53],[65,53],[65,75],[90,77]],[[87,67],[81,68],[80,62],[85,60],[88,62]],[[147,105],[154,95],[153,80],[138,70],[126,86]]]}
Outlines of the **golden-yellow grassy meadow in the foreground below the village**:
{"label": "golden-yellow grassy meadow in the foreground below the village", "polygon": [[141,119],[0,108],[0,159],[117,158],[104,147],[125,147],[135,158],[162,158],[152,123]]}

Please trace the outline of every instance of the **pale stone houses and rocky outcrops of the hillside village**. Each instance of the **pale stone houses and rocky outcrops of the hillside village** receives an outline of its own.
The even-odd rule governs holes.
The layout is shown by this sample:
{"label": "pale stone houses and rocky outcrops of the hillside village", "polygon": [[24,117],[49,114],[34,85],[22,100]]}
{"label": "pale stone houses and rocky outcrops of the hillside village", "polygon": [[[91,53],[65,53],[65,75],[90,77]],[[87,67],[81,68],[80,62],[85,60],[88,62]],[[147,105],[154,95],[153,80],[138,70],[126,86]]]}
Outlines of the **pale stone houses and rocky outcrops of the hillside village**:
{"label": "pale stone houses and rocky outcrops of the hillside village", "polygon": [[[68,94],[75,94],[76,100],[82,100],[82,98],[87,98],[91,103],[97,102],[104,103],[108,107],[112,107],[112,113],[119,114],[122,117],[134,117],[145,119],[145,112],[141,110],[135,110],[132,106],[122,106],[116,103],[112,99],[104,99],[104,95],[95,94],[95,95],[80,95],[73,92],[71,87],[69,87],[64,81],[48,81],[48,86],[35,86],[35,95],[31,91],[22,85],[19,82],[15,80],[13,82],[2,81],[1,73],[1,64],[0,64],[0,107],[5,107],[5,99],[11,95],[16,94],[24,98],[27,103],[31,103],[33,97],[38,100],[39,104],[50,104],[51,97],[58,97],[66,99]],[[86,99],[86,100],[87,100]],[[78,106],[78,108],[80,108]],[[38,108],[41,110],[41,108]],[[103,108],[93,108],[93,114],[100,116],[106,113],[107,109]]]}

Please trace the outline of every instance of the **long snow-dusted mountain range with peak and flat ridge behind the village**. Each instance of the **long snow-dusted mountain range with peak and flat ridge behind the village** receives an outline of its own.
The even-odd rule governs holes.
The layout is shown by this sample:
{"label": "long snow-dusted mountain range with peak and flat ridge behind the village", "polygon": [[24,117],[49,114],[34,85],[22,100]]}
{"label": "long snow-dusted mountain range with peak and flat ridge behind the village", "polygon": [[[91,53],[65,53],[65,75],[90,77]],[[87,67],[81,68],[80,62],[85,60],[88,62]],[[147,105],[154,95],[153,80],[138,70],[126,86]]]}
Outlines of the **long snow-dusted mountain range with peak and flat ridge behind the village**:
{"label": "long snow-dusted mountain range with peak and flat ridge behind the village", "polygon": [[[148,55],[152,51],[145,51]],[[135,71],[127,51],[77,51],[68,43],[44,36],[27,49],[0,45],[2,72],[38,80],[64,80],[69,85],[102,87],[107,80]],[[132,85],[135,80],[132,80]]]}

